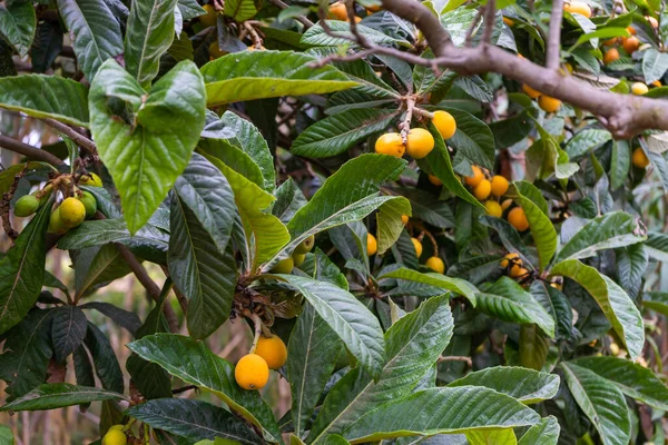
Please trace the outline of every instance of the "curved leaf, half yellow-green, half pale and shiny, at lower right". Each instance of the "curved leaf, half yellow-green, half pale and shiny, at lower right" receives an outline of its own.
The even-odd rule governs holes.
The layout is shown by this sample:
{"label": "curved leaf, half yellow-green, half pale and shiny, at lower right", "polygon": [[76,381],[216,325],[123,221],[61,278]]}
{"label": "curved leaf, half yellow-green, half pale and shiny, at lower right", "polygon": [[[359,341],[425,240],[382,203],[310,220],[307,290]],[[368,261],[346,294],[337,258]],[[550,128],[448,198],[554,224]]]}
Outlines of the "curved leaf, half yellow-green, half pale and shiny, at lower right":
{"label": "curved leaf, half yellow-green, half pale and shiny, at lower right", "polygon": [[645,345],[642,316],[619,285],[577,259],[559,263],[552,268],[551,274],[571,278],[587,289],[622,339],[631,359],[640,356]]}

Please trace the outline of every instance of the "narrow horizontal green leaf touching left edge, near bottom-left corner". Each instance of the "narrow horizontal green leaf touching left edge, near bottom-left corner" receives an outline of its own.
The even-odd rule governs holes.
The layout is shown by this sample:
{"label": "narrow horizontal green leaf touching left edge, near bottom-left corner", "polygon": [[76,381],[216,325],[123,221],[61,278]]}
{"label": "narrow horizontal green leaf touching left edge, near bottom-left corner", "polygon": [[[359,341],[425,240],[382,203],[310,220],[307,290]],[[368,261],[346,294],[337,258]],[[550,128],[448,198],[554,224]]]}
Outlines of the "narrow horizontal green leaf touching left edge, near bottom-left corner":
{"label": "narrow horizontal green leaf touching left edge, near bottom-left corner", "polygon": [[24,396],[8,403],[0,411],[43,411],[62,408],[97,400],[120,400],[127,398],[122,394],[69,383],[51,383],[40,385]]}

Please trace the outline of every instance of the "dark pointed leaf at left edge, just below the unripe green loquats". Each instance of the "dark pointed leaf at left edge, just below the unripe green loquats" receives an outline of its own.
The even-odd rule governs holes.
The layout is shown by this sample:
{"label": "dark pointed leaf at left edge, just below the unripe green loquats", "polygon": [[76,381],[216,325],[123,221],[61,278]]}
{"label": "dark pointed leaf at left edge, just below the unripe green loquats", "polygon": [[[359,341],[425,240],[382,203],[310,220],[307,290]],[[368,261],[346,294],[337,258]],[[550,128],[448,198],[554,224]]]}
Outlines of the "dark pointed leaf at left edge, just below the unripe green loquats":
{"label": "dark pointed leaf at left edge, just below the unripe green loquats", "polygon": [[51,205],[52,199],[47,199],[0,259],[0,334],[16,326],[39,297],[45,279]]}

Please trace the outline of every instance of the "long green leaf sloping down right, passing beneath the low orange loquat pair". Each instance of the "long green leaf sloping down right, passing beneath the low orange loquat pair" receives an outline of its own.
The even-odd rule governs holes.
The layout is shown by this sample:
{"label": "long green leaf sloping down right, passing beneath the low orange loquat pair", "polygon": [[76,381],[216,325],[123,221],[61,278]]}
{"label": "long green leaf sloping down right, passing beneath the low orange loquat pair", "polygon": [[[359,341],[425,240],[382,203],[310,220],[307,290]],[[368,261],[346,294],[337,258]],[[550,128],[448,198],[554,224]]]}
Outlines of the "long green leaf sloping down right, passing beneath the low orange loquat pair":
{"label": "long green leaf sloping down right, passing beneath the low orange loquat pair", "polygon": [[212,353],[204,343],[180,335],[156,334],[130,343],[128,348],[185,383],[210,390],[242,417],[264,427],[271,438],[278,442],[278,425],[259,394],[242,389],[235,382],[234,367]]}

